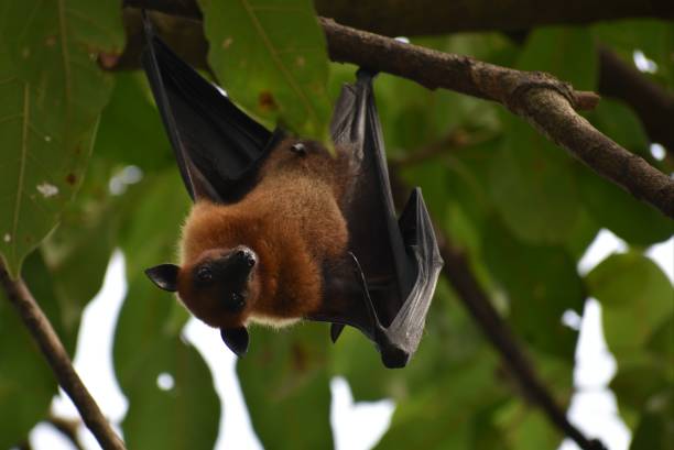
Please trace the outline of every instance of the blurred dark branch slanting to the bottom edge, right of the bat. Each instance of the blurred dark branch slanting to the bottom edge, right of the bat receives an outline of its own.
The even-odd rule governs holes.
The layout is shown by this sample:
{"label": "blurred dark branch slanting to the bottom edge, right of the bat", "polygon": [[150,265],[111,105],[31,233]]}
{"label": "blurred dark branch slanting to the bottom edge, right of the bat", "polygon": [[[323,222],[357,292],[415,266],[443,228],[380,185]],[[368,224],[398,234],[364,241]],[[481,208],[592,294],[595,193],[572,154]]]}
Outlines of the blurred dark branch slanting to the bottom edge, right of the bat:
{"label": "blurred dark branch slanting to the bottom edge, right of the bat", "polygon": [[503,361],[515,375],[528,397],[536,403],[555,427],[572,438],[584,450],[605,449],[599,440],[588,439],[568,421],[564,410],[557,406],[545,385],[539,380],[531,363],[517,343],[517,339],[496,311],[489,297],[475,278],[466,255],[444,240],[441,253],[445,260],[443,274],[447,277],[459,299],[482,329],[487,339],[499,351]]}

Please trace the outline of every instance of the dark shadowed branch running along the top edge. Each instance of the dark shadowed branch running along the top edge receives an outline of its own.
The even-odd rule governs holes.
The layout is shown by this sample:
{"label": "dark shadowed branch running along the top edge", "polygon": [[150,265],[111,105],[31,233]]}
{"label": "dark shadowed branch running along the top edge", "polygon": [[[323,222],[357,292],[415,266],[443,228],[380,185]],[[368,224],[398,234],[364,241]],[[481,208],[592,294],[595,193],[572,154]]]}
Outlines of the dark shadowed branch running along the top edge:
{"label": "dark shadowed branch running along the top edge", "polygon": [[[168,14],[199,19],[196,0],[124,0]],[[314,0],[319,15],[388,36],[457,31],[512,31],[550,24],[581,24],[623,18],[674,18],[670,0]]]}

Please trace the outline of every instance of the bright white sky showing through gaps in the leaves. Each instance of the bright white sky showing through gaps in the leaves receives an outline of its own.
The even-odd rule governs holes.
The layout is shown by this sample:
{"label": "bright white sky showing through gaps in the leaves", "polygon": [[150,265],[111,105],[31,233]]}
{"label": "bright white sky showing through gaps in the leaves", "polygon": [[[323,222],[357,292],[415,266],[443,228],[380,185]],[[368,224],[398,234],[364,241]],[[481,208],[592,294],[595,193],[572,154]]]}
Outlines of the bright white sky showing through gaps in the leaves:
{"label": "bright white sky showing through gaps in the leaves", "polygon": [[[609,254],[624,250],[624,242],[609,231],[602,230],[579,262],[578,271],[585,274]],[[674,282],[674,239],[651,248],[648,254]],[[123,257],[120,252],[116,252],[100,293],[85,309],[74,361],[77,371],[104,414],[115,424],[121,422],[128,407],[128,402],[115,380],[111,355],[116,318],[127,289],[123,274]],[[599,304],[590,299],[586,304],[581,322],[577,315],[573,314],[565,316],[564,319],[570,326],[580,327],[574,372],[577,393],[573,397],[568,414],[572,421],[579,428],[588,432],[596,432],[610,450],[627,450],[630,431],[618,416],[615,396],[606,387],[615,375],[616,361],[604,341],[600,314]],[[216,449],[261,449],[252,430],[236,377],[233,354],[224,350],[216,330],[209,329],[195,319],[187,323],[184,332],[211,369],[216,392],[221,399],[224,414],[220,419],[220,435]],[[157,374],[157,388],[170,388],[171,386],[170,374]],[[333,393],[330,422],[336,449],[370,449],[389,427],[394,410],[393,402],[355,404],[348,383],[344,378],[334,378],[330,389]],[[78,417],[74,406],[63,393],[54,399],[53,409],[65,417]],[[87,449],[99,448],[84,427],[80,436]],[[35,450],[73,449],[67,440],[44,424],[33,429],[31,443]],[[577,447],[569,441],[565,441],[559,448],[559,450],[573,449]]]}

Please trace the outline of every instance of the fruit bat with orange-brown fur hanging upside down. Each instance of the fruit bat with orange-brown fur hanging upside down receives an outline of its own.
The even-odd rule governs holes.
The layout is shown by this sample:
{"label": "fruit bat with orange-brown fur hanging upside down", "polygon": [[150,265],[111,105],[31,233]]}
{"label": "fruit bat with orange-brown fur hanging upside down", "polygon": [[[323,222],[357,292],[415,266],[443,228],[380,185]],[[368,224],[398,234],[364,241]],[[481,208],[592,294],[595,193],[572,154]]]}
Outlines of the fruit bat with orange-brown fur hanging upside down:
{"label": "fruit bat with orange-brown fur hanging upside down", "polygon": [[269,131],[175,55],[144,18],[142,55],[195,205],[181,264],[145,271],[237,354],[251,322],[331,323],[374,342],[387,367],[421,340],[443,261],[420,188],[394,213],[373,74],[344,86],[334,152]]}

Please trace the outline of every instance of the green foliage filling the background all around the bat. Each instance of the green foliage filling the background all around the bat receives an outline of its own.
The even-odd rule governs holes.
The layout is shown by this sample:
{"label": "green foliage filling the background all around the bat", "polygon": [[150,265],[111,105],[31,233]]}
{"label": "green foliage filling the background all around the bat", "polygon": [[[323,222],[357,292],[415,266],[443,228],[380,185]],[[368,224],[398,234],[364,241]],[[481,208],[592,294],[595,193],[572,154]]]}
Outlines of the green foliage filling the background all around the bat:
{"label": "green foliage filling the background all around the bat", "polygon": [[[211,68],[232,99],[270,127],[324,136],[330,102],[355,67],[328,62],[307,0],[258,3],[202,1]],[[112,250],[121,248],[129,292],[115,364],[130,400],[122,424],[128,444],[213,448],[220,411],[211,375],[181,339],[185,311],[142,276],[144,267],[175,257],[188,198],[143,76],[111,75],[96,64],[98,54],[122,47],[119,6],[1,0],[0,11],[0,254],[12,274],[26,279],[73,351],[81,310],[100,287]],[[628,58],[640,48],[662,68],[652,81],[672,92],[673,33],[671,23],[629,21],[541,28],[521,44],[490,33],[416,43],[546,70],[588,90],[597,89],[597,45]],[[673,290],[642,252],[671,237],[672,222],[494,103],[383,74],[376,90],[391,157],[404,161],[439,145],[441,152],[405,165],[402,176],[422,186],[439,228],[468,251],[553,395],[566,404],[573,393],[577,336],[561,316],[580,314],[594,296],[605,308],[619,365],[611,387],[621,413],[632,417],[633,448],[664,449],[674,417]],[[627,106],[605,99],[587,118],[653,165],[672,169],[650,156]],[[142,171],[140,183],[124,177],[129,166]],[[578,260],[601,228],[626,240],[629,253],[607,257],[583,277]],[[354,330],[335,347],[319,325],[256,329],[252,340],[238,373],[268,448],[333,444],[333,375],[349,381],[357,400],[396,400],[380,448],[554,448],[562,439],[523,403],[517,382],[443,281],[420,351],[403,371],[382,369]],[[171,392],[156,387],[163,372],[174,376]],[[1,448],[23,441],[46,417],[55,388],[0,298]]]}

